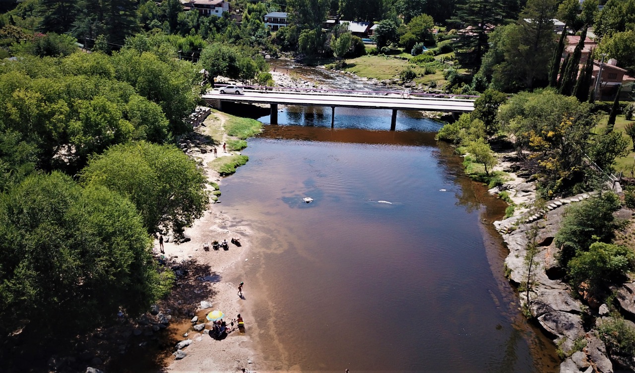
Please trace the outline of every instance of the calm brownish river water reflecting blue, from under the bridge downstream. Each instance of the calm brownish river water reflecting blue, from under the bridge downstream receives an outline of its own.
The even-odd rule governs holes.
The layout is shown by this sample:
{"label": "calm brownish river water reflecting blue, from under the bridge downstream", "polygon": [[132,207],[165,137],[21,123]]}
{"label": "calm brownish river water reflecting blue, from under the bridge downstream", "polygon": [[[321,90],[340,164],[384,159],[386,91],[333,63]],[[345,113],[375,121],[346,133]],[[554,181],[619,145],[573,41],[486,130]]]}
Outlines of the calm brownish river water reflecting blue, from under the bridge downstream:
{"label": "calm brownish river water reflecting blue, from under the bridge downstream", "polygon": [[[505,204],[434,140],[440,124],[389,110],[285,108],[224,180],[225,213],[254,233],[245,282],[271,369],[557,372],[505,280],[491,222]],[[306,204],[304,197],[314,202]],[[379,202],[385,201],[385,202]],[[389,203],[387,203],[389,202]]]}

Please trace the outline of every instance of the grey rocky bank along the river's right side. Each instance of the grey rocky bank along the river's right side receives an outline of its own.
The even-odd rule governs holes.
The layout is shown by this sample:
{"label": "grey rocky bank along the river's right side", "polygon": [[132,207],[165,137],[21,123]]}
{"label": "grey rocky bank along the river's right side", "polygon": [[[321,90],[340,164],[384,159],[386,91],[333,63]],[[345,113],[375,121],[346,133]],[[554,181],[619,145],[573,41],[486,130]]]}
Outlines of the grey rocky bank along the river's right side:
{"label": "grey rocky bank along the river's right side", "polygon": [[[597,304],[592,299],[584,303],[572,296],[573,289],[561,280],[561,268],[558,266],[556,254],[558,247],[554,245],[554,237],[558,232],[568,204],[575,204],[591,197],[592,193],[581,193],[567,199],[551,200],[545,207],[532,207],[536,197],[535,182],[520,178],[512,172],[519,166],[513,157],[502,156],[503,162],[496,167],[497,171],[509,173],[511,181],[490,190],[491,194],[506,192],[514,204],[520,208],[514,215],[494,225],[507,244],[509,255],[505,259],[505,273],[512,284],[519,286],[528,281],[528,270],[525,262],[527,255],[528,235],[537,228],[538,244],[532,276],[533,286],[527,299],[526,291],[520,291],[521,303],[525,305],[525,313],[535,320],[558,346],[559,355],[564,358],[560,365],[561,373],[612,373],[613,363],[620,369],[633,370],[635,360],[611,356],[607,353],[605,343],[598,337],[597,326],[609,315],[607,304]],[[631,218],[632,211],[618,211],[621,218]],[[535,276],[535,277],[534,277]],[[624,284],[617,289],[617,303],[622,313],[635,316],[635,282]],[[629,320],[627,323],[633,324]]]}

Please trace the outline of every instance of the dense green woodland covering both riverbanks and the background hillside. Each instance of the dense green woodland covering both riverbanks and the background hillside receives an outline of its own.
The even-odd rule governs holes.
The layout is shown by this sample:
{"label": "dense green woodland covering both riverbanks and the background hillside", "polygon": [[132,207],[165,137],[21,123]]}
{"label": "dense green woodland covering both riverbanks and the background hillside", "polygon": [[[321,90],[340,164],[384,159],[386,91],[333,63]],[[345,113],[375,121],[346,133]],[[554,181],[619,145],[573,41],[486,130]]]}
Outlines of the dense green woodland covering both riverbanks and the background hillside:
{"label": "dense green woodland covering both riverbanks and the background hillside", "polygon": [[[635,109],[619,91],[613,104],[600,103],[591,75],[600,55],[635,74],[635,0],[233,0],[222,16],[184,11],[179,0],[2,6],[1,336],[43,313],[57,322],[40,332],[62,336],[58,326],[77,320],[89,330],[118,311],[135,317],[170,291],[152,237],[178,235],[208,205],[202,172],[175,144],[218,75],[272,85],[265,55],[322,58],[338,69],[349,58],[396,56],[406,64],[401,83],[441,70],[425,89],[480,98],[438,138],[483,165],[479,180],[493,186],[502,178],[490,172],[491,145],[505,136],[546,200],[599,188],[605,175],[588,162],[610,173],[629,154],[628,138],[613,129],[618,114],[630,120]],[[288,12],[289,25],[269,30],[271,11]],[[554,18],[565,24],[561,34]],[[376,24],[374,45],[327,19]],[[580,42],[562,60],[568,35]],[[590,35],[597,48],[583,62]],[[625,133],[635,141],[635,124]],[[606,215],[620,202],[597,203],[592,212]],[[585,234],[600,238],[575,241],[570,232],[588,217],[562,233],[563,263],[578,285],[584,268],[597,268],[589,253],[605,250],[604,259],[621,263],[619,273],[594,278],[608,287],[634,259],[600,247],[613,245],[613,225],[593,233],[599,225],[589,224]]]}

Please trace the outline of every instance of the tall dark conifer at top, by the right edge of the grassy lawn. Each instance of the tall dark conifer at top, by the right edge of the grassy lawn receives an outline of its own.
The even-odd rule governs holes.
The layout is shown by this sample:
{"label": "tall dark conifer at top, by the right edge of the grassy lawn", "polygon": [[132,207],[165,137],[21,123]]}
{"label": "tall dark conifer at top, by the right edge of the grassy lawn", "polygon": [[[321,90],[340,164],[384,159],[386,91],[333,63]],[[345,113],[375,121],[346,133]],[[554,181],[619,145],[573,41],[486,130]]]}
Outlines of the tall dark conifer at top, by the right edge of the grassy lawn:
{"label": "tall dark conifer at top, by the right edge of the grassy lawn", "polygon": [[465,25],[467,31],[458,34],[457,46],[463,52],[467,65],[481,65],[481,58],[488,49],[487,34],[493,27],[505,22],[503,0],[467,0],[456,5],[456,13],[450,23]]}

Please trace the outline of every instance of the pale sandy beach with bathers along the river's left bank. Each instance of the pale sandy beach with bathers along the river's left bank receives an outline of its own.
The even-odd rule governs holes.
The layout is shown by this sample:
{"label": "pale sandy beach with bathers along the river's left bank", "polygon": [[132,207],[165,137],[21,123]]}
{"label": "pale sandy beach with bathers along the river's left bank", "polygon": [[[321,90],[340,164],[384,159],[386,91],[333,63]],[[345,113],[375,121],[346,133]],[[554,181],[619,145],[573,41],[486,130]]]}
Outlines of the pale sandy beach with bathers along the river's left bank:
{"label": "pale sandy beach with bathers along the river's left bank", "polygon": [[[203,126],[196,129],[197,133],[208,134],[215,140],[220,141],[217,145],[218,157],[223,157],[238,152],[224,153],[222,142],[227,140],[222,125],[227,117],[221,112],[213,112],[208,119],[203,122]],[[222,178],[219,174],[208,166],[215,157],[213,149],[200,152],[199,148],[190,148],[187,153],[190,157],[202,162],[208,182],[218,183],[222,190]],[[220,197],[222,201],[222,197]],[[199,283],[201,294],[213,294],[208,298],[199,299],[192,304],[198,304],[197,309],[191,311],[199,317],[196,324],[207,322],[205,315],[212,310],[221,310],[225,313],[224,320],[229,325],[240,313],[246,325],[246,332],[241,333],[234,329],[225,339],[217,341],[211,338],[206,332],[197,332],[189,327],[187,337],[182,340],[191,339],[192,343],[185,347],[183,351],[187,356],[182,360],[168,358],[168,372],[239,372],[241,369],[248,369],[250,372],[262,371],[262,358],[258,357],[257,349],[257,325],[253,323],[252,311],[248,299],[240,298],[237,295],[237,283],[229,282],[231,278],[239,278],[236,268],[247,259],[250,250],[250,230],[247,226],[232,220],[230,216],[223,213],[222,203],[210,204],[210,208],[203,218],[198,219],[191,228],[185,230],[185,235],[190,237],[189,242],[175,244],[173,242],[164,243],[164,251],[168,258],[176,258],[177,263],[181,261],[191,261],[196,265],[208,267],[209,274],[193,279],[194,283]],[[231,243],[232,238],[240,241],[240,246]],[[229,250],[211,248],[211,242],[217,240],[227,240]],[[204,249],[204,244],[209,244],[210,249]],[[158,241],[155,244],[158,249]],[[184,263],[185,263],[184,262]],[[249,280],[241,278],[237,282],[244,281],[244,292],[249,294]],[[199,292],[194,291],[194,292]],[[177,291],[178,293],[178,291]],[[208,301],[211,308],[201,309],[200,301]],[[203,319],[203,320],[201,320]],[[205,329],[211,329],[206,325]]]}

